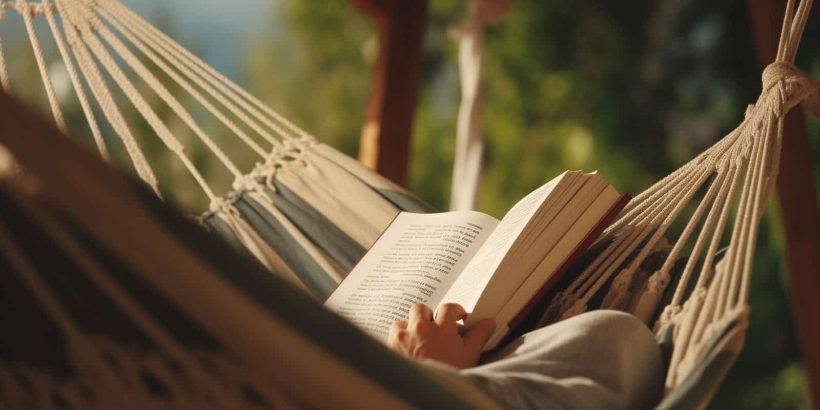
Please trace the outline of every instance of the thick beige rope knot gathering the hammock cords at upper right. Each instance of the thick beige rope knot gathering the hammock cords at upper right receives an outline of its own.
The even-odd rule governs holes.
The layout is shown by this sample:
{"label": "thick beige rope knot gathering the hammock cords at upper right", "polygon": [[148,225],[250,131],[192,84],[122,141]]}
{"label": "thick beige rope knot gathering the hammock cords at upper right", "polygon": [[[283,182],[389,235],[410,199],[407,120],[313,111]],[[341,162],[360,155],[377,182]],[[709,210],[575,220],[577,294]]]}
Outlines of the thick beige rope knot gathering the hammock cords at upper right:
{"label": "thick beige rope knot gathering the hammock cords at upper right", "polygon": [[763,69],[763,102],[775,115],[783,116],[806,100],[809,114],[820,116],[820,85],[790,62],[772,62]]}

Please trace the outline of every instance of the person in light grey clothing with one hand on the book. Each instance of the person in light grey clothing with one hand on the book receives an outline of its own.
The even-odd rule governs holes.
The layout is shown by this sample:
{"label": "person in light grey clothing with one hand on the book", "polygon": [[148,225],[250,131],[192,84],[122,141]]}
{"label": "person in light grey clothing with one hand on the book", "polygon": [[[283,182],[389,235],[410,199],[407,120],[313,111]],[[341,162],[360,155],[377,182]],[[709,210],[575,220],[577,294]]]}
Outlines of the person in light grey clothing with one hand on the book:
{"label": "person in light grey clothing with one hand on the book", "polygon": [[461,305],[436,316],[417,303],[408,321],[390,329],[388,345],[453,376],[465,377],[509,408],[652,408],[663,394],[661,351],[652,332],[630,314],[586,312],[532,330],[481,355],[493,319],[463,331]]}

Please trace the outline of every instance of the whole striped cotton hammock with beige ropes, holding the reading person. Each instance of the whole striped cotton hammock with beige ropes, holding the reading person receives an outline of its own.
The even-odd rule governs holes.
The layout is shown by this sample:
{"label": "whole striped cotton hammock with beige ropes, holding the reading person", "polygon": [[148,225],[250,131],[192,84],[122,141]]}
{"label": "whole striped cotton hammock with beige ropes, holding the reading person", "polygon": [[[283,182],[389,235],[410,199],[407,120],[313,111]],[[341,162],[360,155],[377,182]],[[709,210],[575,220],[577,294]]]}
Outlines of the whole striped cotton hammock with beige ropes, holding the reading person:
{"label": "whole striped cotton hammock with beige ropes, holding the reading person", "polygon": [[[792,65],[810,6],[810,0],[800,2],[795,11],[788,3],[777,60],[763,71],[763,92],[745,120],[637,195],[541,318],[549,323],[608,307],[654,325],[672,352],[659,408],[704,406],[742,347],[757,224],[777,175],[782,118],[805,99],[815,114],[820,106],[818,85]],[[469,385],[392,355],[293,291],[307,289],[321,298],[343,275],[344,258],[355,261],[353,255],[376,239],[395,212],[429,207],[318,143],[114,0],[2,3],[0,12],[8,10],[24,16],[57,128],[65,126],[31,25],[34,16],[45,16],[75,91],[85,95],[62,36],[67,38],[140,177],[159,193],[93,57],[189,166],[212,198],[211,212],[201,220],[235,249],[203,235],[145,189],[4,102],[0,123],[7,132],[0,143],[26,174],[2,187],[0,262],[15,275],[4,276],[0,289],[13,289],[2,298],[3,312],[15,312],[8,321],[20,323],[12,328],[21,334],[0,342],[0,400],[25,404],[21,408],[60,401],[134,408],[494,407]],[[203,93],[239,117],[271,152],[254,148],[262,162],[247,175],[239,172],[109,25],[223,124],[233,123]],[[103,40],[212,148],[235,175],[234,192],[212,193]],[[0,52],[0,82],[9,91],[5,68]],[[106,157],[88,98],[80,101]],[[235,134],[252,148],[256,144],[239,127]],[[705,193],[695,215],[667,246],[667,227],[699,191]],[[718,253],[733,203],[731,241]],[[347,241],[323,244],[329,227]],[[691,240],[694,247],[683,260],[681,249]],[[337,244],[344,247],[334,249]],[[649,256],[658,254],[663,262],[655,268]],[[43,343],[52,337],[62,341],[60,348]]]}

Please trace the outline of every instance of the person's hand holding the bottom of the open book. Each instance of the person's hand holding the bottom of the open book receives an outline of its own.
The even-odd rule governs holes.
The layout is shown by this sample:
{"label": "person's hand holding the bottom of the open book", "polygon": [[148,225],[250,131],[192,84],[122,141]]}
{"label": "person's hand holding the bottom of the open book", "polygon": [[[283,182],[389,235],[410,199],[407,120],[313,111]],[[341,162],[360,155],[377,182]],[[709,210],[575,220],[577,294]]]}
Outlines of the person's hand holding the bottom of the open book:
{"label": "person's hand holding the bottom of the open book", "polygon": [[495,330],[492,318],[477,321],[463,336],[457,321],[467,317],[467,311],[457,303],[444,303],[438,317],[423,303],[410,308],[408,321],[397,321],[390,327],[387,345],[410,358],[429,358],[459,369],[474,367],[481,348]]}

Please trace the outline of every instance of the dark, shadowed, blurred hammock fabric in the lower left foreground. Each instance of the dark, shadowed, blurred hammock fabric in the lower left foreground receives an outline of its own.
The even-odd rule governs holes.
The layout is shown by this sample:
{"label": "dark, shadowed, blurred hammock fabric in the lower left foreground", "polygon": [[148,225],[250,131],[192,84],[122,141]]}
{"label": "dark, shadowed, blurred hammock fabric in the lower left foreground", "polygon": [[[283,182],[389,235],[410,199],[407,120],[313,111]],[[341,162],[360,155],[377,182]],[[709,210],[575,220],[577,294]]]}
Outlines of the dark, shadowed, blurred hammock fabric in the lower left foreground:
{"label": "dark, shadowed, blurred hammock fabric in the lower left foreground", "polygon": [[0,122],[25,168],[0,184],[0,317],[14,330],[0,338],[0,408],[498,408],[327,312],[3,93]]}

